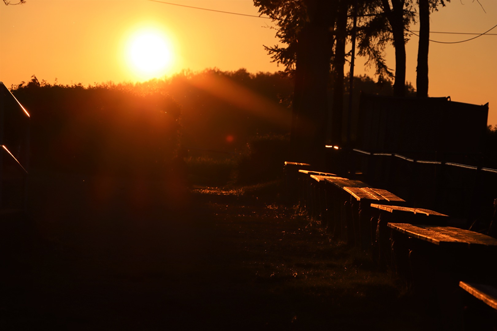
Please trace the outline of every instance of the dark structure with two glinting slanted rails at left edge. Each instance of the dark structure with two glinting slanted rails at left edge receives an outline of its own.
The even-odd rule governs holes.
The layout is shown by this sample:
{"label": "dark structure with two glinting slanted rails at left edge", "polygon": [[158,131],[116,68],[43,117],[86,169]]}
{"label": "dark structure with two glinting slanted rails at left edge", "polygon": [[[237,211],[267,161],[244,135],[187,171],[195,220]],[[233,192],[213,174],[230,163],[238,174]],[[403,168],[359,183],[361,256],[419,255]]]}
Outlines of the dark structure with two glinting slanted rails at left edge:
{"label": "dark structure with two glinting slanted rails at left edge", "polygon": [[29,114],[0,82],[0,209],[25,209]]}

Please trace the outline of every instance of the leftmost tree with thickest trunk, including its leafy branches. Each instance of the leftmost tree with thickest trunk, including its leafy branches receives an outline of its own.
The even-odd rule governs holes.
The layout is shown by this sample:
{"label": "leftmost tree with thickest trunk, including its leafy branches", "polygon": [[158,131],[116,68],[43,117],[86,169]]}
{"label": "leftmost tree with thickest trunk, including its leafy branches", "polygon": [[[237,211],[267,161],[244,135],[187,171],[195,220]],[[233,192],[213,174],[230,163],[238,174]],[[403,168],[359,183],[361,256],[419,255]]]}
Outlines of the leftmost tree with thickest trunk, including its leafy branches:
{"label": "leftmost tree with thickest trunk, including its leafy branches", "polygon": [[295,78],[291,158],[324,164],[328,122],[327,87],[338,1],[254,0],[259,13],[277,21],[276,36],[286,48],[266,47],[274,62]]}

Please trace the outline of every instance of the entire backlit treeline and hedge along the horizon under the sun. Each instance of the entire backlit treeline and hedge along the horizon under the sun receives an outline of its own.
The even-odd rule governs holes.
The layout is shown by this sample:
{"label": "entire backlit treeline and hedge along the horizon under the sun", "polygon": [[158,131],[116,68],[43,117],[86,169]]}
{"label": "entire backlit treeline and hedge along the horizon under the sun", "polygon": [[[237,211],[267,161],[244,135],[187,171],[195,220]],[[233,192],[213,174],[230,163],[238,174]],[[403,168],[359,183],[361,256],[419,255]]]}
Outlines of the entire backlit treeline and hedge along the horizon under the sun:
{"label": "entire backlit treeline and hedge along the horizon under the sun", "polygon": [[[367,76],[355,84],[369,93],[392,90]],[[256,136],[281,140],[290,131],[292,91],[285,74],[207,69],[87,87],[33,76],[12,92],[31,114],[32,167],[154,174],[168,169],[180,148],[235,153],[250,150]]]}

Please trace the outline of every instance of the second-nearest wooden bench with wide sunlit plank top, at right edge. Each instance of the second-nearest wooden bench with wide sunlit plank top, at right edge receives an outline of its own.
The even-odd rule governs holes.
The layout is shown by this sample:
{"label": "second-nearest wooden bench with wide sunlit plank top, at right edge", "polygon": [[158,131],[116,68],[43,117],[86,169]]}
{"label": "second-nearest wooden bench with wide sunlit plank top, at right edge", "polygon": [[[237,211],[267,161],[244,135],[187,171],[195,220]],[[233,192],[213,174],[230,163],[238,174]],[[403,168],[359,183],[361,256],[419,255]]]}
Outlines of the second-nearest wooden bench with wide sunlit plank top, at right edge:
{"label": "second-nearest wooden bench with wide sunlit plank top, at right edge", "polygon": [[[424,217],[429,218],[429,216]],[[497,239],[451,226],[391,223],[395,265],[407,269],[408,279],[425,286],[441,274],[438,283],[457,288],[459,280],[496,281]],[[409,265],[407,265],[409,263]],[[402,271],[402,270],[401,270]],[[435,281],[436,282],[436,281]]]}

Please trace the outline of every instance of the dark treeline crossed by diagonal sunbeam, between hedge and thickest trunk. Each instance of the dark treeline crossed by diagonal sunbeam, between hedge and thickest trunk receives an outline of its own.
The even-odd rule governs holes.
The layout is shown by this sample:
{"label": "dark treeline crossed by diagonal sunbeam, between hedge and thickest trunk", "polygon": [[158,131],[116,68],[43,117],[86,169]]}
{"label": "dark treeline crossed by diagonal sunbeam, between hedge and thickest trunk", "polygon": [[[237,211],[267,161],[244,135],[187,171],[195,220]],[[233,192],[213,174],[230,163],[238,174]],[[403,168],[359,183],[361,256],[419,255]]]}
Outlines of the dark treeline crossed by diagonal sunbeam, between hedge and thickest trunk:
{"label": "dark treeline crossed by diagonal sunbeam, between hedge and thickest trunk", "polygon": [[192,150],[235,152],[252,136],[290,130],[287,100],[293,83],[280,73],[252,74],[246,69],[184,71],[137,87],[166,91],[181,105],[181,143]]}

